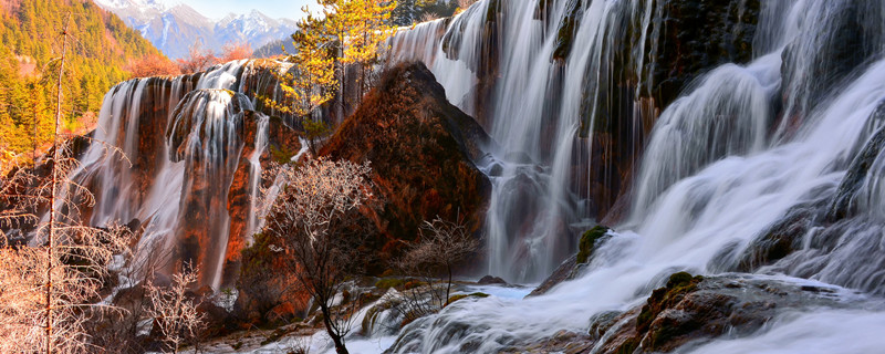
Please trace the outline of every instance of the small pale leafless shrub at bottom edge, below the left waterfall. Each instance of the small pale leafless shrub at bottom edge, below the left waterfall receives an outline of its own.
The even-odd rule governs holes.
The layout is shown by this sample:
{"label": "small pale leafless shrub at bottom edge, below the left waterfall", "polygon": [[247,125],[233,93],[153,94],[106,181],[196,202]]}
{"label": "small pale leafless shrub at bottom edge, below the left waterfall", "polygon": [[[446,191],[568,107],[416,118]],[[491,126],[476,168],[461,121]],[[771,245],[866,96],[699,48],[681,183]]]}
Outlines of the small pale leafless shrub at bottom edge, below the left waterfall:
{"label": "small pale leafless shrub at bottom edge, below the left waterfall", "polygon": [[160,288],[153,280],[145,287],[150,299],[147,315],[153,317],[163,334],[162,341],[178,353],[181,344],[197,339],[205,327],[204,315],[197,311],[199,303],[188,298],[188,288],[197,282],[199,270],[190,263],[173,275],[168,288]]}

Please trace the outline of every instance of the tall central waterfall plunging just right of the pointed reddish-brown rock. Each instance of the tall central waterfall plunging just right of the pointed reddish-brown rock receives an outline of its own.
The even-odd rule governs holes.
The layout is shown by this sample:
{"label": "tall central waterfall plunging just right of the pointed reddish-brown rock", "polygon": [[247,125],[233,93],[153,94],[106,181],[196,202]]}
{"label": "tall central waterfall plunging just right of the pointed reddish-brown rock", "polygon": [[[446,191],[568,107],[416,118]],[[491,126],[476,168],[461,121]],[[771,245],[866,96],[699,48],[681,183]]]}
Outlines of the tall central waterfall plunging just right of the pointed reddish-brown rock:
{"label": "tall central waterfall plunging just right of the pointed reddish-brown rock", "polygon": [[[613,32],[633,18],[645,32],[650,4],[552,1],[544,10],[528,1],[481,1],[448,27],[423,23],[393,39],[395,60],[425,61],[448,98],[477,116],[503,149],[487,168],[496,170],[486,227],[490,273],[537,281],[573,250],[574,228],[591,218],[575,185],[587,178],[580,160],[592,154],[592,136],[579,132],[592,127],[595,117],[585,122],[583,111],[587,96],[602,90],[587,80],[606,81],[614,54],[601,54],[613,46]],[[571,45],[563,41],[590,49],[563,61]]]}

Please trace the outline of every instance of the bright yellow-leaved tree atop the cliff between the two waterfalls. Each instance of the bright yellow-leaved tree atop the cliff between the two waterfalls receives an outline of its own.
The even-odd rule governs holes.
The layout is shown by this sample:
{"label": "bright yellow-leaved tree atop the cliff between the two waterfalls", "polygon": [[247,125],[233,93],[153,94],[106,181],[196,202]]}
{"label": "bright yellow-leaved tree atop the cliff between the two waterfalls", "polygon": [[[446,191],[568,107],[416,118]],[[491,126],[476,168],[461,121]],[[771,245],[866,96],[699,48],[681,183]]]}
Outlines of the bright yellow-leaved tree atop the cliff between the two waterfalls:
{"label": "bright yellow-leaved tree atop the cliff between the two waterfalls", "polygon": [[[336,97],[342,115],[347,111],[344,107],[360,104],[371,87],[374,67],[381,62],[382,46],[394,32],[391,12],[396,2],[317,0],[317,4],[321,17],[302,8],[305,15],[292,34],[294,52],[285,59],[293,66],[278,75],[282,95],[263,100],[268,107],[300,119],[314,155],[316,142],[332,132],[314,113]],[[357,77],[347,75],[352,65],[357,65]],[[357,85],[355,94],[347,91],[348,82]],[[355,102],[348,102],[352,95]]]}

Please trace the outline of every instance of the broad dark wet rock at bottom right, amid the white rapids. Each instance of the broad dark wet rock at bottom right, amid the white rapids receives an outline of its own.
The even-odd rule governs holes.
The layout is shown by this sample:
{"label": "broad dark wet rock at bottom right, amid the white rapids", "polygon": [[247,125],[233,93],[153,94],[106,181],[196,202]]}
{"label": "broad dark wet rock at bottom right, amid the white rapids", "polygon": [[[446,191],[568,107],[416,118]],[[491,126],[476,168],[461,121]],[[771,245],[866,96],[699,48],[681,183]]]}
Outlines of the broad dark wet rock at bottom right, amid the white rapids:
{"label": "broad dark wet rock at bottom right, amid the white rapids", "polygon": [[825,285],[737,274],[701,278],[679,272],[670,275],[666,287],[655,290],[638,313],[634,309],[622,315],[621,320],[633,315],[635,320],[613,327],[615,333],[603,344],[602,352],[666,353],[689,342],[752,334],[788,311],[847,305]]}

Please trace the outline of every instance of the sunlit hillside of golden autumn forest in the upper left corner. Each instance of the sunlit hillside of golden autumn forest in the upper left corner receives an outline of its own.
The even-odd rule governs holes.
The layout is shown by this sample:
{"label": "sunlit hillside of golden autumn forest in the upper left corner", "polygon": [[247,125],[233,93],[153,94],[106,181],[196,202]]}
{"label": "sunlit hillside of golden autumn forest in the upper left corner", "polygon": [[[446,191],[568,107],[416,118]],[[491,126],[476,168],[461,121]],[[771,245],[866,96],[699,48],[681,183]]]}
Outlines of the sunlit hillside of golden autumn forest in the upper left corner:
{"label": "sunlit hillside of golden autumn forest in the upper left corner", "polygon": [[[116,15],[91,1],[0,0],[0,147],[29,158],[50,138],[55,103],[55,62],[66,14],[71,14],[64,73],[64,128],[83,129],[96,122],[104,93],[126,80],[127,63],[159,52]],[[34,129],[37,122],[37,129]],[[23,154],[28,153],[28,154]],[[23,155],[22,155],[23,154]],[[0,167],[13,156],[0,157]],[[2,168],[0,168],[2,169]]]}

